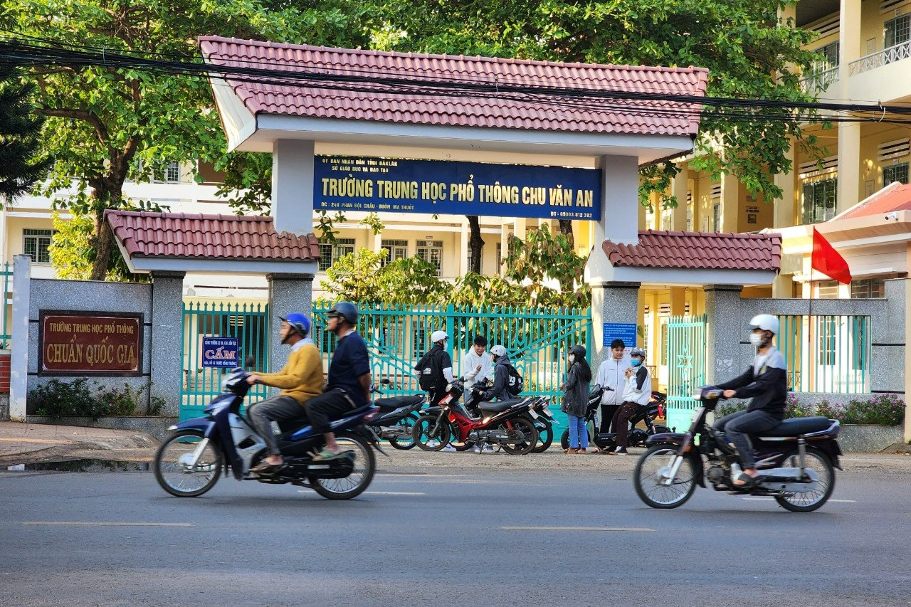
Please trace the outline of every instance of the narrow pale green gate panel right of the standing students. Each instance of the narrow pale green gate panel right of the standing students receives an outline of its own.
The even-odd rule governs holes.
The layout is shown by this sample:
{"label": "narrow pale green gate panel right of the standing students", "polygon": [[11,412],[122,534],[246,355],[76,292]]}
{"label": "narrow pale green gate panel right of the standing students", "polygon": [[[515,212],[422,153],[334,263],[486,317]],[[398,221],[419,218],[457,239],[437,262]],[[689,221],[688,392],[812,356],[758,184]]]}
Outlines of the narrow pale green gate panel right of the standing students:
{"label": "narrow pale green gate panel right of the standing students", "polygon": [[705,385],[705,315],[668,319],[668,427],[685,432],[698,401],[695,388]]}

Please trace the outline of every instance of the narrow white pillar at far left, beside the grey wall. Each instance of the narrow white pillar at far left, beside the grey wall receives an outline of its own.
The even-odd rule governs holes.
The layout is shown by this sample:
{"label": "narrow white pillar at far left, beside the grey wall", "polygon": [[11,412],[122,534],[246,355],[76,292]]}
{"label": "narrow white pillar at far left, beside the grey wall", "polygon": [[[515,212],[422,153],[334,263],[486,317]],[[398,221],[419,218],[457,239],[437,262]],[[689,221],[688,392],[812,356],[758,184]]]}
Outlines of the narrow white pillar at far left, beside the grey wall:
{"label": "narrow white pillar at far left, beside the grey wall", "polygon": [[[32,298],[29,285],[32,280],[32,258],[29,255],[13,256],[13,318],[10,325],[9,359],[9,419],[26,421],[28,398],[28,344],[38,338],[36,317],[34,335],[29,334],[28,317]],[[5,296],[5,293],[4,293]],[[6,311],[3,312],[6,314]]]}

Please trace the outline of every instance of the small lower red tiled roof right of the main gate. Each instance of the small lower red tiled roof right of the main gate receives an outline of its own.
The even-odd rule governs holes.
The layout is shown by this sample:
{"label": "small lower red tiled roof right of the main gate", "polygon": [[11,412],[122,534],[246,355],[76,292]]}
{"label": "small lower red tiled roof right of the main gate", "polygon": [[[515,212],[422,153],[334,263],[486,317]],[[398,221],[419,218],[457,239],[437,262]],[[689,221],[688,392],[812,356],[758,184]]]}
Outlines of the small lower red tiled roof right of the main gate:
{"label": "small lower red tiled roof right of the main gate", "polygon": [[782,261],[780,234],[640,230],[638,244],[601,246],[614,266],[777,271]]}

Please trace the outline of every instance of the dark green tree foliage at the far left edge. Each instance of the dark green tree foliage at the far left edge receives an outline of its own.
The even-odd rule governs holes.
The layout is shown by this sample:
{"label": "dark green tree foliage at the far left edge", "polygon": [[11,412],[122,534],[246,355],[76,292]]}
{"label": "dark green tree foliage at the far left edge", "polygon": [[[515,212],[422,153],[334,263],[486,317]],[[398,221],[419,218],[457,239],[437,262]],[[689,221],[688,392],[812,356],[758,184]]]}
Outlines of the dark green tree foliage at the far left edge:
{"label": "dark green tree foliage at the far left edge", "polygon": [[36,115],[35,87],[21,82],[21,70],[0,65],[0,198],[12,204],[50,169],[40,151],[45,118]]}

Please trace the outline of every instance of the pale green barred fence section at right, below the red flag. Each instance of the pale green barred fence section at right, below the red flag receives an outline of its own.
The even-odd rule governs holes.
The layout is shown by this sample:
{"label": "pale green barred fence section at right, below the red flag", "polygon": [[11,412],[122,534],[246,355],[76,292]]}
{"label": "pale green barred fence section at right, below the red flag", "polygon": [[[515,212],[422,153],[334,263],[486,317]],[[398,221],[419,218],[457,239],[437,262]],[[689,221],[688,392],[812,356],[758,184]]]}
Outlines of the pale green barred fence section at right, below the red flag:
{"label": "pale green barred fence section at right, below the red flag", "polygon": [[870,317],[780,315],[776,339],[793,392],[870,391]]}

